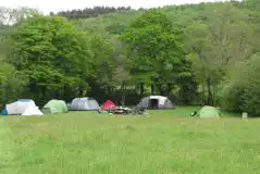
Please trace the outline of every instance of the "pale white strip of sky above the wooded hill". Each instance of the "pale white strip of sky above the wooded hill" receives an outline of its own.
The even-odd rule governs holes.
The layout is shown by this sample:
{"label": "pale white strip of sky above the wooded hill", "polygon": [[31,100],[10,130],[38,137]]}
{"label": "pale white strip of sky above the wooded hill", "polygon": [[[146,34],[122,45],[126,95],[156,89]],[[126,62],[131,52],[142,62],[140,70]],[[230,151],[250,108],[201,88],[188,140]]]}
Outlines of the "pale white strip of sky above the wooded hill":
{"label": "pale white strip of sky above the wooded hill", "polygon": [[73,0],[73,1],[53,1],[53,0],[8,0],[2,1],[1,5],[16,8],[16,7],[28,7],[38,9],[40,12],[58,12],[72,9],[84,9],[86,7],[91,8],[95,5],[109,5],[109,7],[132,7],[133,9],[138,8],[157,8],[169,4],[184,4],[184,3],[199,3],[199,2],[215,2],[215,1],[226,1],[226,0]]}

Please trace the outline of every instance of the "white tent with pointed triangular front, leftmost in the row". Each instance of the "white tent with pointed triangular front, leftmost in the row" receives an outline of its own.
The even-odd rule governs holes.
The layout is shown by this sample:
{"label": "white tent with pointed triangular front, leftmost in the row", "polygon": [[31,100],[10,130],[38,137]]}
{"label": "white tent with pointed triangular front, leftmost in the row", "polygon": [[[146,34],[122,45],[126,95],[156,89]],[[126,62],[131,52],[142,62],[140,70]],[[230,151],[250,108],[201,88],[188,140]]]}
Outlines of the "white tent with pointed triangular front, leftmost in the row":
{"label": "white tent with pointed triangular front, leftmost in the row", "polygon": [[20,99],[5,105],[9,115],[42,115],[34,100]]}

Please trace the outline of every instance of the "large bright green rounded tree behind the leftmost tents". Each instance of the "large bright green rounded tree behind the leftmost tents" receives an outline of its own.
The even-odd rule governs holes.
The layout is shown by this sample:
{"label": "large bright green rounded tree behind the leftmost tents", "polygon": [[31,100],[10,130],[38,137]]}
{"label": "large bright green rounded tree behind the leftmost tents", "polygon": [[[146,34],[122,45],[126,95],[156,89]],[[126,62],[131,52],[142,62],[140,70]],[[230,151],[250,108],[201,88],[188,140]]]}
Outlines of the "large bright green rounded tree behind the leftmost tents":
{"label": "large bright green rounded tree behind the leftmost tents", "polygon": [[86,35],[63,17],[35,15],[12,39],[10,62],[27,75],[30,91],[39,98],[53,91],[59,97],[78,86],[91,60]]}

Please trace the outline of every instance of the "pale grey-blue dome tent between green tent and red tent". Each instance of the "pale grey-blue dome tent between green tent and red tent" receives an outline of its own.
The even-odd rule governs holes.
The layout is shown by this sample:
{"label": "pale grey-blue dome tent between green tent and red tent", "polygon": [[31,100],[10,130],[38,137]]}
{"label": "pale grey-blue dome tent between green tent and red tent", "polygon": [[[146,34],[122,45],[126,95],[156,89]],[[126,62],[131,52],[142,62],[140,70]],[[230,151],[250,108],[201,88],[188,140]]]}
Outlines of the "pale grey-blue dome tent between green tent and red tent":
{"label": "pale grey-blue dome tent between green tent and red tent", "polygon": [[99,110],[99,104],[94,98],[75,98],[70,104],[70,110],[73,111],[91,111]]}

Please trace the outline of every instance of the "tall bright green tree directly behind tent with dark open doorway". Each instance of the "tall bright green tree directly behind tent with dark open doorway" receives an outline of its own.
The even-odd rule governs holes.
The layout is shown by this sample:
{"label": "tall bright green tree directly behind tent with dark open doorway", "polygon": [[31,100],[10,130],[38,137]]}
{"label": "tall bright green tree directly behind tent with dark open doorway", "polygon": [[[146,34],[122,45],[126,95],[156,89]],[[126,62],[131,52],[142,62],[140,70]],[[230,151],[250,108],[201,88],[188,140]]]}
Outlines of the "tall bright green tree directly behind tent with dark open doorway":
{"label": "tall bright green tree directly behind tent with dark open doorway", "polygon": [[[182,45],[178,42],[172,23],[160,10],[151,9],[137,17],[122,35],[128,46],[132,72],[139,84],[173,84],[176,69],[182,66]],[[169,85],[170,86],[170,85]]]}

